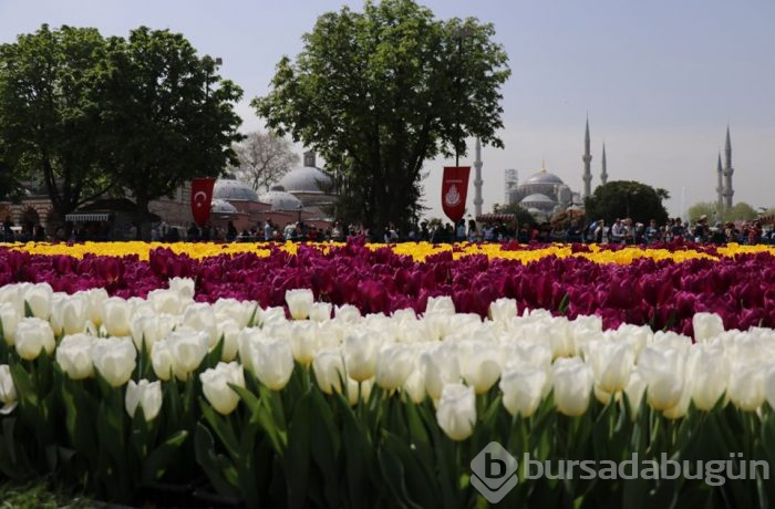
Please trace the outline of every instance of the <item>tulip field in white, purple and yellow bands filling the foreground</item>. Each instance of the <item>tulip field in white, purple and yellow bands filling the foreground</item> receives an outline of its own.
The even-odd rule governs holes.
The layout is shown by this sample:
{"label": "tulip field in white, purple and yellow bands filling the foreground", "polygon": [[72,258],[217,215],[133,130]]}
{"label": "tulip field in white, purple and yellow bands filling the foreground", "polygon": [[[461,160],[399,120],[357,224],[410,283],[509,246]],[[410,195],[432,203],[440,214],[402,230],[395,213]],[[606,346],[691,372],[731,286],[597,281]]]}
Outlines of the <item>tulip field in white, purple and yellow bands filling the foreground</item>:
{"label": "tulip field in white, purple and yellow bands filling the foreground", "polygon": [[[772,248],[6,245],[0,324],[6,478],[482,507],[497,442],[566,461],[509,507],[775,500]],[[700,471],[572,471],[632,455]]]}

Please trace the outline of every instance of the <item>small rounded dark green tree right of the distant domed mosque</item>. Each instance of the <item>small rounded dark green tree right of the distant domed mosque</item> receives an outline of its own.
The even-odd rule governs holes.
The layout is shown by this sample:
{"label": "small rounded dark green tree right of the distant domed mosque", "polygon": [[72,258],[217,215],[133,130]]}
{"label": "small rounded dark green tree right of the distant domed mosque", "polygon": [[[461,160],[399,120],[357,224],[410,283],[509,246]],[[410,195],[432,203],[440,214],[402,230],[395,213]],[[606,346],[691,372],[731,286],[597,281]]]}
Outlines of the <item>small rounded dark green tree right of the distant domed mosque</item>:
{"label": "small rounded dark green tree right of the distant domed mosque", "polygon": [[604,219],[609,225],[617,218],[631,218],[636,222],[658,225],[668,221],[668,211],[662,199],[668,198],[664,189],[654,189],[645,184],[631,180],[614,180],[595,189],[585,199],[588,220]]}

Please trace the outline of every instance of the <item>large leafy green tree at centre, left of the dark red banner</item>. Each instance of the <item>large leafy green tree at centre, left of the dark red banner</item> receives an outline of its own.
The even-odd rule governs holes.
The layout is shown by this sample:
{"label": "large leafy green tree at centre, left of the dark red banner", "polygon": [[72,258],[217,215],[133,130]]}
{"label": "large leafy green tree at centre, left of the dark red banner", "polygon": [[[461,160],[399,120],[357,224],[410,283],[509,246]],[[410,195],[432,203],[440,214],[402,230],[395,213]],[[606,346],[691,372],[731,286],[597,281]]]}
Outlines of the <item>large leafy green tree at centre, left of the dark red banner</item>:
{"label": "large leafy green tree at centre, left of the dark red banner", "polygon": [[503,146],[500,85],[510,71],[493,35],[492,24],[440,21],[412,0],[344,7],[318,19],[252,105],[339,174],[338,209],[351,221],[405,226],[421,210],[426,159],[465,154],[469,136]]}

